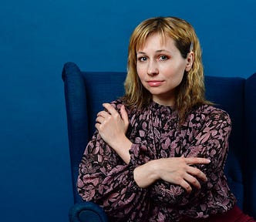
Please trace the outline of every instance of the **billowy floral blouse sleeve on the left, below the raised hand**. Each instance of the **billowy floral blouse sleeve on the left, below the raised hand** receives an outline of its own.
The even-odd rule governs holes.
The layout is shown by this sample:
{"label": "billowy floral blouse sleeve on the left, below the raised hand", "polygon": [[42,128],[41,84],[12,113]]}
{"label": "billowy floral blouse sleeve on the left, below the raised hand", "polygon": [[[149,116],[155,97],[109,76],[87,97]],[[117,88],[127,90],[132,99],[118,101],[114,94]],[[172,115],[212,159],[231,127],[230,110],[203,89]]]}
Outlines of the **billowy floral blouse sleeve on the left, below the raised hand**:
{"label": "billowy floral blouse sleeve on the left, below the raised hand", "polygon": [[136,218],[136,214],[147,214],[147,190],[136,185],[133,170],[133,165],[124,163],[96,132],[79,164],[79,195],[102,206],[109,217]]}

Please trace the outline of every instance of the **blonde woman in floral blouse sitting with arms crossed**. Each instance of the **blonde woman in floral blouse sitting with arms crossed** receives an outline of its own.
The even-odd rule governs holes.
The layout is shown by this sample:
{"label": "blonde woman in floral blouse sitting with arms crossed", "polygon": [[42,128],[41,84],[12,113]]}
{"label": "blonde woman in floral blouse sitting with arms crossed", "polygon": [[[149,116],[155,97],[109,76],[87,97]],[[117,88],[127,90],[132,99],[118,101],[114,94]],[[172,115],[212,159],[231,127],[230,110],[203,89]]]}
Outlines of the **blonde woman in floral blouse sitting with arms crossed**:
{"label": "blonde woman in floral blouse sitting with arms crossed", "polygon": [[159,17],[136,27],[125,89],[98,113],[79,166],[81,197],[110,221],[254,221],[227,186],[231,119],[204,98],[188,22]]}

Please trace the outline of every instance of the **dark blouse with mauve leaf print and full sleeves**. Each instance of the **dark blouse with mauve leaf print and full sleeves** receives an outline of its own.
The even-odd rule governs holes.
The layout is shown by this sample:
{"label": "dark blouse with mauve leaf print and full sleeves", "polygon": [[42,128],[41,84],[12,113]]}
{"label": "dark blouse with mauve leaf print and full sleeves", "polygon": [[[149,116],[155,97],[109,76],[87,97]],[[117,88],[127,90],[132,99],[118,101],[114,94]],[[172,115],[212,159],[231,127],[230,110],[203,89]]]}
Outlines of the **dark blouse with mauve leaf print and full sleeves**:
{"label": "dark blouse with mauve leaf print and full sleeves", "polygon": [[[120,99],[112,105],[120,110]],[[179,124],[170,106],[157,103],[142,112],[127,110],[130,126],[126,136],[133,145],[126,164],[96,131],[79,165],[79,195],[104,208],[110,221],[193,221],[234,207],[235,197],[227,186],[224,163],[227,158],[231,119],[214,106],[197,106]],[[173,156],[198,156],[211,160],[197,165],[207,175],[201,189],[187,193],[179,185],[158,180],[140,188],[133,170],[150,160]]]}

